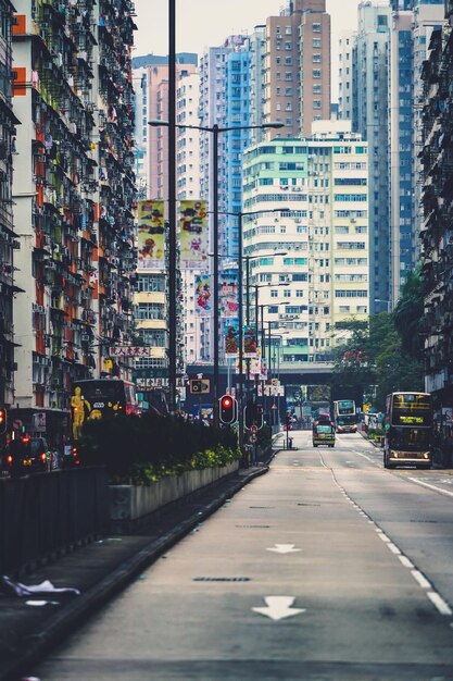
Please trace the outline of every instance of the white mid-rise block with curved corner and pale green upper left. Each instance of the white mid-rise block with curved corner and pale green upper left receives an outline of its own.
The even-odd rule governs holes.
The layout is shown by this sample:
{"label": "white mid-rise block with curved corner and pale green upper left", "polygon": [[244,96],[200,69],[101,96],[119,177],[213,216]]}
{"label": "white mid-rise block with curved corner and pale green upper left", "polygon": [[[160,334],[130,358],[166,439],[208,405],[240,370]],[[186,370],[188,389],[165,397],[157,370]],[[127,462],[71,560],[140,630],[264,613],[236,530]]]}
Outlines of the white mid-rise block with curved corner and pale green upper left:
{"label": "white mid-rise block with curved corner and pale green upper left", "polygon": [[280,366],[326,361],[335,324],[369,313],[367,145],[349,122],[319,122],[307,139],[248,149],[243,188],[244,209],[260,211],[244,221],[246,307],[255,321],[266,307]]}

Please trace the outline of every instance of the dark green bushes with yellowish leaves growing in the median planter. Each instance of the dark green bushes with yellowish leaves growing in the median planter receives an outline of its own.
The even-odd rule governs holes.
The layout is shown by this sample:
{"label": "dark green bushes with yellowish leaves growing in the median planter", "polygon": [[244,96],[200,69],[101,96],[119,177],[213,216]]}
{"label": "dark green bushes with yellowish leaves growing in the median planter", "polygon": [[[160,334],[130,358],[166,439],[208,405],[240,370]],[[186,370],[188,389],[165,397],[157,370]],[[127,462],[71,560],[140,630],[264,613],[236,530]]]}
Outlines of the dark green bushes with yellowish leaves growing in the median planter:
{"label": "dark green bushes with yellowish leaves growing in the median planter", "polygon": [[84,466],[103,466],[111,484],[149,485],[185,471],[225,467],[240,459],[236,433],[147,412],[85,424]]}

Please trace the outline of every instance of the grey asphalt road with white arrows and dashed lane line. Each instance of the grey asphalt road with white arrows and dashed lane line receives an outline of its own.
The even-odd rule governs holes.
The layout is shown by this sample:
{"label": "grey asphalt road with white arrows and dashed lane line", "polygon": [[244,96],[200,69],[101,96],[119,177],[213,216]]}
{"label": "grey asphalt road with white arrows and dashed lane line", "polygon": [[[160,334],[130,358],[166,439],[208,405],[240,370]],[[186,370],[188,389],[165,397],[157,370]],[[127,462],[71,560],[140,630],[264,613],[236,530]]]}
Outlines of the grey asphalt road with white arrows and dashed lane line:
{"label": "grey asphalt road with white arrows and dashed lane line", "polygon": [[41,681],[453,679],[453,479],[360,435],[292,433],[34,674]]}

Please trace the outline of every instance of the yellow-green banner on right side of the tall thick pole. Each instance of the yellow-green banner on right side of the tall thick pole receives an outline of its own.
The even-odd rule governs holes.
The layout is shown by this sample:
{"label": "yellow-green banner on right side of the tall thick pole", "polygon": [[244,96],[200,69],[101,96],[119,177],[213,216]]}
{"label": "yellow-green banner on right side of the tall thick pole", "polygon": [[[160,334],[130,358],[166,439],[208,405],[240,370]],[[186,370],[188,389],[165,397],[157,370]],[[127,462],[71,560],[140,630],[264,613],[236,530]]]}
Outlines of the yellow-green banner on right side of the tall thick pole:
{"label": "yellow-green banner on right side of the tall thick pole", "polygon": [[207,269],[206,201],[179,202],[180,260],[186,270]]}

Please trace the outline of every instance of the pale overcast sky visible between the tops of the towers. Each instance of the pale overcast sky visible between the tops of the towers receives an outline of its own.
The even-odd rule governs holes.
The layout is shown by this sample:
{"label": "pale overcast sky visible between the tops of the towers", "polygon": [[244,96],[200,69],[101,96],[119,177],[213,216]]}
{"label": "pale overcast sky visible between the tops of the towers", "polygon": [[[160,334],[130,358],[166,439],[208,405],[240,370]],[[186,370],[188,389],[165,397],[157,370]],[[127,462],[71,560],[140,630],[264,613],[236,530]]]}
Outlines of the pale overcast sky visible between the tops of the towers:
{"label": "pale overcast sky visible between the tops of the towers", "polygon": [[[357,26],[358,0],[327,0],[332,26],[332,90],[336,94],[338,34]],[[135,0],[136,57],[166,54],[167,0]],[[205,47],[218,46],[231,35],[253,32],[267,16],[278,15],[285,0],[176,0],[176,51],[202,54]]]}

